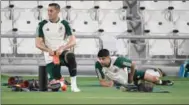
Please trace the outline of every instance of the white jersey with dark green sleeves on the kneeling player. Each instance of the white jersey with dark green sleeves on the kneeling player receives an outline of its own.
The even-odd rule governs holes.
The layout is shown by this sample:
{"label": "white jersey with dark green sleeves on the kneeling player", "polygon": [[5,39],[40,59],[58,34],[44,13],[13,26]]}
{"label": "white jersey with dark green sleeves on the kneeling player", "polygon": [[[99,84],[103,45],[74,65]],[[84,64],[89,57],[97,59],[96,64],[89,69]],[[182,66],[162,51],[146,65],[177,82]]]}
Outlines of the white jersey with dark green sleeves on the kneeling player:
{"label": "white jersey with dark green sleeves on the kneeling player", "polygon": [[[69,23],[66,20],[58,20],[52,23],[49,20],[43,20],[39,23],[37,30],[38,37],[44,39],[45,45],[52,49],[57,50],[60,46],[68,42],[68,36],[72,35]],[[53,58],[49,56],[48,52],[44,52],[45,63],[51,63]]]}

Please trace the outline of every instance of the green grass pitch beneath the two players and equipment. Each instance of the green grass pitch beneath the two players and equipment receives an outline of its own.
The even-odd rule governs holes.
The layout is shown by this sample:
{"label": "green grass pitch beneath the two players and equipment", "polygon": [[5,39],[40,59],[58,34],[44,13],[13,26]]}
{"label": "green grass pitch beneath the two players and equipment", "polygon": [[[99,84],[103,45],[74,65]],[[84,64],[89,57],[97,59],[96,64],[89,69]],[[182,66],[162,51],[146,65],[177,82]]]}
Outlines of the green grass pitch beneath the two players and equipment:
{"label": "green grass pitch beneath the two players and equipment", "polygon": [[[25,77],[31,78],[31,77]],[[1,83],[7,82],[1,76]],[[173,86],[156,86],[170,93],[121,92],[116,88],[100,87],[95,77],[78,77],[82,92],[12,92],[7,86],[1,87],[2,104],[189,104],[189,79],[169,78]]]}

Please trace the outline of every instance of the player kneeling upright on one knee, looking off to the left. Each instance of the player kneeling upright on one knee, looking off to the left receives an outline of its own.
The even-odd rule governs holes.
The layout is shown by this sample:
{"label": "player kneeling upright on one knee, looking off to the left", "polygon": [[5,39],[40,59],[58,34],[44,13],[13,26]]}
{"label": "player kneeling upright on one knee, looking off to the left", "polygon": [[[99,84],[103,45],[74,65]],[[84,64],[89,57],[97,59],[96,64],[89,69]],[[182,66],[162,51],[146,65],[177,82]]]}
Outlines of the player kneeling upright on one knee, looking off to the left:
{"label": "player kneeling upright on one knee, looking off to the left", "polygon": [[71,91],[80,92],[76,81],[77,63],[71,51],[76,44],[76,38],[69,23],[59,18],[59,12],[59,4],[49,4],[49,19],[41,21],[38,25],[36,47],[44,52],[49,80],[52,82],[61,79],[61,65],[65,65],[71,77]]}

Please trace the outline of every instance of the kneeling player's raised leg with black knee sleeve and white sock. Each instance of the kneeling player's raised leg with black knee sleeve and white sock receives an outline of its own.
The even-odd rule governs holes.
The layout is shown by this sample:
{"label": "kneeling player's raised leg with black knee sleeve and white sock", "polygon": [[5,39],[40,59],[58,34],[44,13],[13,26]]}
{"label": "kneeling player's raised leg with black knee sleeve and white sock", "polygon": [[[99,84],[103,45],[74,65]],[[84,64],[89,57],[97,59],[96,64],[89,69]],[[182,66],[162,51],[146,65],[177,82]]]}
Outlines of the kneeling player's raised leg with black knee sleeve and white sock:
{"label": "kneeling player's raised leg with black knee sleeve and white sock", "polygon": [[71,79],[71,90],[74,92],[79,92],[80,89],[77,87],[77,63],[75,55],[72,52],[64,51],[60,56],[61,62],[68,67],[70,79]]}

